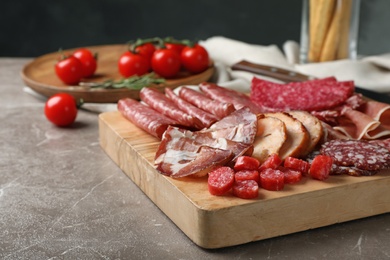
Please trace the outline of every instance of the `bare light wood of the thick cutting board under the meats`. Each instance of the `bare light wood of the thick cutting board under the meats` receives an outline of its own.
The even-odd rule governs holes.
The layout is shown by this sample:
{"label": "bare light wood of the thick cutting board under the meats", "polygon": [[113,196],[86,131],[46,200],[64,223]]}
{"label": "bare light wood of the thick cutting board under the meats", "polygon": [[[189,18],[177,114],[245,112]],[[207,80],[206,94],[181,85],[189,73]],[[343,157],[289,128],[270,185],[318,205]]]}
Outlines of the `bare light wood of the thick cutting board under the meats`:
{"label": "bare light wood of the thick cutting board under the meats", "polygon": [[212,196],[207,179],[173,179],[153,167],[159,140],[119,112],[99,115],[104,151],[197,245],[221,248],[390,212],[390,171],[375,176],[305,177],[259,198]]}

